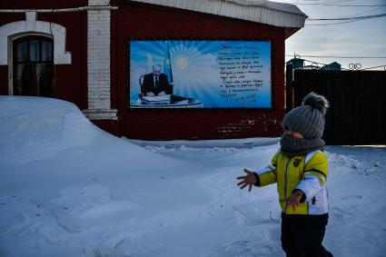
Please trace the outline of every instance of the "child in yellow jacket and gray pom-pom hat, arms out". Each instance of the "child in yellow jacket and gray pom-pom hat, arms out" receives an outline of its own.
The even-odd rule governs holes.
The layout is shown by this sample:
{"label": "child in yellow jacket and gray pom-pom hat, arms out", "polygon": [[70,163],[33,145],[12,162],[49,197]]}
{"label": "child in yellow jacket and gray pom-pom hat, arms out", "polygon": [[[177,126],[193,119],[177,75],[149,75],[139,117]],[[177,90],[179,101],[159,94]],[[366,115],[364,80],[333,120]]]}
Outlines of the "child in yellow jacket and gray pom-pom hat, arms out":
{"label": "child in yellow jacket and gray pom-pom hat, arms out", "polygon": [[260,172],[244,169],[240,188],[277,183],[282,207],[282,249],[287,257],[330,256],[322,241],[328,220],[326,179],[328,160],[323,153],[324,114],[329,102],[308,94],[302,106],[284,116],[281,148],[272,164]]}

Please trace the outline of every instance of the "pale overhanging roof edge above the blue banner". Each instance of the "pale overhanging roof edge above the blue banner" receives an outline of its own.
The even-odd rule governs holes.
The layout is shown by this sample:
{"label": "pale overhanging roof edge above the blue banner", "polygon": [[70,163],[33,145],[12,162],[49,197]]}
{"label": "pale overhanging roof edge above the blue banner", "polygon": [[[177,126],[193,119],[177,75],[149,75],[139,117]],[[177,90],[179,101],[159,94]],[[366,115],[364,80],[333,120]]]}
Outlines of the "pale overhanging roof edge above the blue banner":
{"label": "pale overhanging roof edge above the blue banner", "polygon": [[289,37],[304,26],[305,15],[296,5],[267,0],[132,0],[212,15],[222,15],[286,28]]}

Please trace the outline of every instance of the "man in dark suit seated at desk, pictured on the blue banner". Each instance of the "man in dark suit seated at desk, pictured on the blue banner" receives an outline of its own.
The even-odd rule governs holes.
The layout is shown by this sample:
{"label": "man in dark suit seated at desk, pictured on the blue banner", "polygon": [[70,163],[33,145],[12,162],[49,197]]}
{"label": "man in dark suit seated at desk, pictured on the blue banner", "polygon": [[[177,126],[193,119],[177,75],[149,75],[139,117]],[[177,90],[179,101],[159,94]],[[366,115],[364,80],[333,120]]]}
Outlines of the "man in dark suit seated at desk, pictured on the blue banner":
{"label": "man in dark suit seated at desk, pictured on the blue banner", "polygon": [[160,64],[153,65],[153,73],[144,75],[141,92],[145,96],[164,95],[169,93],[169,83],[166,74],[161,73]]}

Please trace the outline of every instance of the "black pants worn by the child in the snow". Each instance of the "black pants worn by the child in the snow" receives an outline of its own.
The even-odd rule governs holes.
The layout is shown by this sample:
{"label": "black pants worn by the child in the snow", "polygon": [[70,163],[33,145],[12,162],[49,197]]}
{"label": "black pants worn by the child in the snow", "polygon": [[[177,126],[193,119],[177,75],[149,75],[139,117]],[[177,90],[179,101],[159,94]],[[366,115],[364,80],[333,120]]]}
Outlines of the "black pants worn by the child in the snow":
{"label": "black pants worn by the child in the snow", "polygon": [[328,218],[282,213],[282,250],[287,257],[332,257],[322,245]]}

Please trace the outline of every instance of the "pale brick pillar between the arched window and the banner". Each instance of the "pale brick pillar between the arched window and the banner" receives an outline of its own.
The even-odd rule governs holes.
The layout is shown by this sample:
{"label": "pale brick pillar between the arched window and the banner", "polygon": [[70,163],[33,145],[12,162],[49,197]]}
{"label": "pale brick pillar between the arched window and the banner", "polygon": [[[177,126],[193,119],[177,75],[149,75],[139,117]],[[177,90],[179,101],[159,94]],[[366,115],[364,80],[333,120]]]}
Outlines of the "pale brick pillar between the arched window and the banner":
{"label": "pale brick pillar between the arched window and the banner", "polygon": [[117,120],[110,96],[110,0],[88,0],[88,5],[98,8],[87,11],[88,109],[84,114],[91,120]]}

